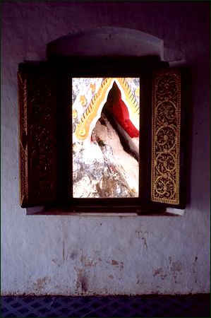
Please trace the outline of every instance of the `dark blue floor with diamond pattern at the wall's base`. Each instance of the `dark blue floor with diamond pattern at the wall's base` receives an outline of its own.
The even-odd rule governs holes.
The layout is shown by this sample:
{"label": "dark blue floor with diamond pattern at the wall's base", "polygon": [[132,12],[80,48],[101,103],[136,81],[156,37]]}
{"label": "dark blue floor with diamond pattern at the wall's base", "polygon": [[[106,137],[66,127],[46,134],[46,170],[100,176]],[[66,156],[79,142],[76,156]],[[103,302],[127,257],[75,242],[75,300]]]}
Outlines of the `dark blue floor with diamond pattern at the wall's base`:
{"label": "dark blue floor with diamond pattern at the wall's base", "polygon": [[1,297],[1,317],[210,317],[210,295]]}

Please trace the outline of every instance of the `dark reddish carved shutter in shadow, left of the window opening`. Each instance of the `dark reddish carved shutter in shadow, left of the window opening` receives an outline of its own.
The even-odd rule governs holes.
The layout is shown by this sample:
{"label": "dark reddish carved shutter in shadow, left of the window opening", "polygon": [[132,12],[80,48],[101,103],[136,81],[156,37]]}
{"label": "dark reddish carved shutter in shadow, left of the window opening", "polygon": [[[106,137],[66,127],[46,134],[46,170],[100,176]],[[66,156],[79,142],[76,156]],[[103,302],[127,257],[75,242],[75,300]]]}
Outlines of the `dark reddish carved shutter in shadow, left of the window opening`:
{"label": "dark reddish carved shutter in shadow, left of the window opening", "polygon": [[56,200],[54,72],[20,64],[18,71],[20,206]]}

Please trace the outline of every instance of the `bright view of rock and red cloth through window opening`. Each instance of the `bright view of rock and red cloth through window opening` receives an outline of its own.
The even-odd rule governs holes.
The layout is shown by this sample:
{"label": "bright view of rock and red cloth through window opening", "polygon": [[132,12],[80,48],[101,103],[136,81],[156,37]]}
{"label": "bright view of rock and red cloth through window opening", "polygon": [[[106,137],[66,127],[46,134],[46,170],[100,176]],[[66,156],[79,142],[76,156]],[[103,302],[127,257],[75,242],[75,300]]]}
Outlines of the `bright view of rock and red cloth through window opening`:
{"label": "bright view of rock and red cloth through window opening", "polygon": [[73,198],[139,189],[140,78],[73,78]]}

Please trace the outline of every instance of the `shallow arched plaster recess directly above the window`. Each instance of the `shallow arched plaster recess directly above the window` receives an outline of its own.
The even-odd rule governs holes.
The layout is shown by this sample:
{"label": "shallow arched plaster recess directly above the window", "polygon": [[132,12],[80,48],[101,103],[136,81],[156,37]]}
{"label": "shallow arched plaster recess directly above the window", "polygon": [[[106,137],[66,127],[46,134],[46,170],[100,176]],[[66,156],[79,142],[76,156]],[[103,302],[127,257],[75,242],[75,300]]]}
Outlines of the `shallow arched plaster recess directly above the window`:
{"label": "shallow arched plaster recess directly above the window", "polygon": [[55,56],[159,56],[164,59],[164,41],[128,28],[102,27],[71,33],[47,45],[47,57]]}

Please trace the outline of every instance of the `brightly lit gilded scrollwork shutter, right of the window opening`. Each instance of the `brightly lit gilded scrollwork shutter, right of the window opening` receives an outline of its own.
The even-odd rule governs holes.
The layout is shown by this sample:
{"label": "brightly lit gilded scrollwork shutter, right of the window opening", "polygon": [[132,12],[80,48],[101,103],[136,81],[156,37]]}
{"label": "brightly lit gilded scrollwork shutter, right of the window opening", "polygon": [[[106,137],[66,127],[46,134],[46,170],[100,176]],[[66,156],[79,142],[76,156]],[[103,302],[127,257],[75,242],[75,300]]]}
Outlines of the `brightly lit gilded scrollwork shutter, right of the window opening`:
{"label": "brightly lit gilded scrollwork shutter, right of the window opening", "polygon": [[181,71],[155,71],[152,75],[152,201],[181,203],[180,139]]}

